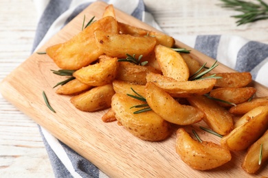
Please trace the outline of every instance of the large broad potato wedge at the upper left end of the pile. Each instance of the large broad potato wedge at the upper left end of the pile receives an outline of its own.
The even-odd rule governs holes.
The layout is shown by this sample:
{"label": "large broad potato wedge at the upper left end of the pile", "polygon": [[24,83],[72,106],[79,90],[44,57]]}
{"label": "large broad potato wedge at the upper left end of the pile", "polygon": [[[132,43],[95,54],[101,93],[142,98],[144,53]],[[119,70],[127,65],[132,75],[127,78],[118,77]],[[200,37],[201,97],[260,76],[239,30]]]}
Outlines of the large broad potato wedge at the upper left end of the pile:
{"label": "large broad potato wedge at the upper left end of the pile", "polygon": [[107,16],[92,23],[79,34],[67,42],[56,44],[46,49],[59,68],[78,70],[98,59],[103,53],[98,48],[94,38],[94,31],[103,30],[109,34],[118,34],[118,25],[115,18]]}

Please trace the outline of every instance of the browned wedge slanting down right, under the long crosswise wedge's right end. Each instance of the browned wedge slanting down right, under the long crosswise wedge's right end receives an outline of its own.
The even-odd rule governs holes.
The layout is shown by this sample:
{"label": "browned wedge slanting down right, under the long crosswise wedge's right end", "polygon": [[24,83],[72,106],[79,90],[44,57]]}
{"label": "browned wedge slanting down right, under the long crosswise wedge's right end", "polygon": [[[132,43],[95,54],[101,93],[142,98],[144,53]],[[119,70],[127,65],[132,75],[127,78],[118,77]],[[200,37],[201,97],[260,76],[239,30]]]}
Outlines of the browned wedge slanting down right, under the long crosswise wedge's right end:
{"label": "browned wedge slanting down right, under the long crosswise wedge's right end", "polygon": [[234,127],[232,115],[222,106],[205,96],[189,97],[189,103],[205,113],[203,120],[216,133],[225,135]]}

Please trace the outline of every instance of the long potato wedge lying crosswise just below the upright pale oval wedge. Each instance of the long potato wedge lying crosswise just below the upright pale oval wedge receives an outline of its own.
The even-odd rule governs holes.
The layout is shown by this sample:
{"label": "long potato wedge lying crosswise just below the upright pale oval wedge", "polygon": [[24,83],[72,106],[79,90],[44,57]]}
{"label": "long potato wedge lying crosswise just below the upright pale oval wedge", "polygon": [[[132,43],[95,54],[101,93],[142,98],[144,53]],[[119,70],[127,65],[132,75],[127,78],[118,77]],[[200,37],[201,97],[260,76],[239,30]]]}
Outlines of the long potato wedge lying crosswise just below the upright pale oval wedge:
{"label": "long potato wedge lying crosswise just below the upright pale oval wedge", "polygon": [[170,77],[149,73],[147,82],[151,81],[159,88],[168,92],[172,97],[194,97],[203,95],[213,89],[216,79],[199,79],[194,81],[171,81]]}

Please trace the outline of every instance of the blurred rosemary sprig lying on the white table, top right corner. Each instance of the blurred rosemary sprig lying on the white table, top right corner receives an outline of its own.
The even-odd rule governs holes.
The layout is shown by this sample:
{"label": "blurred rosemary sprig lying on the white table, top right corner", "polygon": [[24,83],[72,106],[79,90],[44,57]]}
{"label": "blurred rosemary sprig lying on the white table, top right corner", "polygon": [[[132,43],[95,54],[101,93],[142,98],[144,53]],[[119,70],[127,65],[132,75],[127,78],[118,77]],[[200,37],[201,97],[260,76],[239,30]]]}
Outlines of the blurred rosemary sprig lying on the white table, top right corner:
{"label": "blurred rosemary sprig lying on the white table, top right corner", "polygon": [[242,14],[232,16],[238,18],[238,21],[236,21],[237,25],[268,19],[268,5],[263,0],[256,0],[258,3],[243,0],[220,1],[223,1],[222,8],[230,8],[242,12]]}

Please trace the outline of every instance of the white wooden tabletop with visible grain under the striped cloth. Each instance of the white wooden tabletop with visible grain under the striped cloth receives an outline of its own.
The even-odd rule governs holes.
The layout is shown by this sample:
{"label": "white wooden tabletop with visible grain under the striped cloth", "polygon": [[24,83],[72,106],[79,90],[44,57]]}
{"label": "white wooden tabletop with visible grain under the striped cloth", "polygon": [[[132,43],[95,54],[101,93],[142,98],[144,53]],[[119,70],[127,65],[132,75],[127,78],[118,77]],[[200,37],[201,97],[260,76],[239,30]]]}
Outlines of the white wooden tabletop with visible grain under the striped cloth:
{"label": "white wooden tabletop with visible grain under the striped cloth", "polygon": [[[268,44],[268,21],[237,27],[236,20],[230,18],[237,13],[220,8],[216,5],[219,1],[144,2],[167,34],[231,34]],[[0,81],[29,57],[36,24],[37,12],[32,1],[0,1]],[[1,94],[0,177],[54,177],[36,123]]]}

